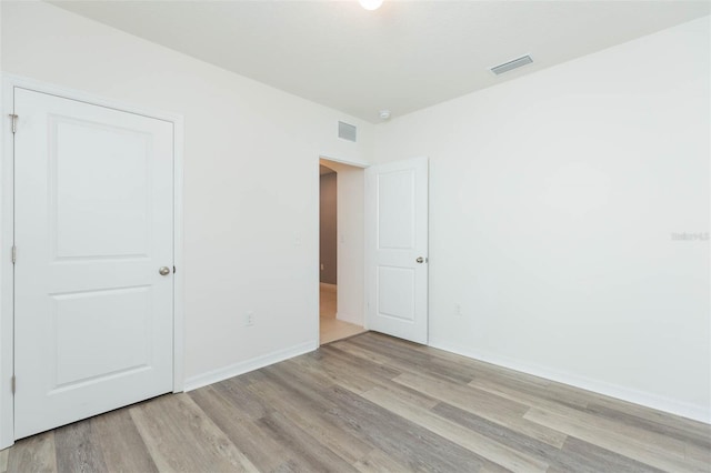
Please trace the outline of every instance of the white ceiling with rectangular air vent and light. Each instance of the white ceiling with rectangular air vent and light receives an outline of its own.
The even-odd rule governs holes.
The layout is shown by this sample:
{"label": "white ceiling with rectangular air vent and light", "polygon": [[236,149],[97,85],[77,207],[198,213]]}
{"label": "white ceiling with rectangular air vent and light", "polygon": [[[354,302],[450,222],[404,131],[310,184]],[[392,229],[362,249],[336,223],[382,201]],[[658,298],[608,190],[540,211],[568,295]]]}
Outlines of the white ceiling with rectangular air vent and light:
{"label": "white ceiling with rectangular air vent and light", "polygon": [[[371,122],[710,13],[709,1],[56,1]],[[502,77],[488,67],[529,53]]]}

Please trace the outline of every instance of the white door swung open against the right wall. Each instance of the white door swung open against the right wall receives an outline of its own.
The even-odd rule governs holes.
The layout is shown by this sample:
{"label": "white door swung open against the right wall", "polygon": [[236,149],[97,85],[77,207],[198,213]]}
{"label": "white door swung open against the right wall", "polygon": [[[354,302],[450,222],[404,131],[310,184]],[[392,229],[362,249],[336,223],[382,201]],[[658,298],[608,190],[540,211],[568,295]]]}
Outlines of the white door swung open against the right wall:
{"label": "white door swung open against the right wall", "polygon": [[428,160],[365,170],[367,326],[428,338]]}

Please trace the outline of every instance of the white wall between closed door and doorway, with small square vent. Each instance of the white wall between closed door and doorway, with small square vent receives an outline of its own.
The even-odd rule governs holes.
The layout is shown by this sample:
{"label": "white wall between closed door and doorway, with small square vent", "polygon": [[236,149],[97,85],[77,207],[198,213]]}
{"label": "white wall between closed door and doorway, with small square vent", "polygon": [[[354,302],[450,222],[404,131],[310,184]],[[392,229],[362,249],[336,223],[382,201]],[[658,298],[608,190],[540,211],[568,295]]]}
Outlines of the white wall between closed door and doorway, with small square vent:
{"label": "white wall between closed door and doorway, with small square vent", "polygon": [[184,115],[189,385],[318,345],[319,155],[371,125],[44,2],[2,2],[2,70]]}

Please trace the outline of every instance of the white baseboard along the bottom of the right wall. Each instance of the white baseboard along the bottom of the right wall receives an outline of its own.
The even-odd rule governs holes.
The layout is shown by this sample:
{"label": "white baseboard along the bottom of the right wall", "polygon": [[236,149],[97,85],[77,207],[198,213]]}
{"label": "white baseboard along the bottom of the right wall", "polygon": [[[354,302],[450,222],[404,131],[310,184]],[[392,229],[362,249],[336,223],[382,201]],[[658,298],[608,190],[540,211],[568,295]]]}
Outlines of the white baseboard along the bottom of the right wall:
{"label": "white baseboard along the bottom of the right wall", "polygon": [[690,404],[687,402],[660,396],[657,394],[620,386],[618,384],[611,384],[611,383],[599,381],[599,380],[591,380],[585,376],[565,373],[565,372],[552,370],[552,369],[540,366],[532,363],[521,363],[518,360],[505,359],[503,356],[490,354],[490,353],[482,353],[475,350],[457,346],[449,343],[430,341],[429,345],[434,349],[444,350],[462,356],[483,361],[485,363],[495,364],[498,366],[507,368],[509,370],[520,371],[522,373],[531,374],[533,376],[544,378],[547,380],[555,381],[558,383],[568,384],[574,388],[592,391],[598,394],[603,394],[610,397],[615,397],[622,401],[631,402],[633,404],[657,409],[659,411],[669,412],[671,414],[680,415],[682,417],[692,419],[694,421],[711,424],[711,406],[709,405],[704,406],[704,405]]}

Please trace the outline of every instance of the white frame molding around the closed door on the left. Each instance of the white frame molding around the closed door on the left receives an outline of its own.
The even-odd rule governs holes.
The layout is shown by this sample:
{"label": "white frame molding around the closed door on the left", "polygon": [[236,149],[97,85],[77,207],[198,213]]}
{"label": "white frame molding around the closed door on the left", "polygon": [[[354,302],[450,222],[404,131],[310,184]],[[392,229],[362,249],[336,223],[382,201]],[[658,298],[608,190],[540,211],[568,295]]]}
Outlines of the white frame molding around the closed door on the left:
{"label": "white frame molding around the closed door on the left", "polygon": [[[184,384],[184,304],[183,304],[183,117],[176,113],[136,107],[93,93],[54,85],[38,80],[2,73],[0,120],[0,449],[14,443],[14,395],[11,378],[14,372],[14,281],[11,246],[14,241],[14,149],[10,114],[14,109],[13,90],[22,88],[77,100],[93,105],[136,113],[173,125],[173,392]],[[22,118],[18,119],[21,127]]]}

